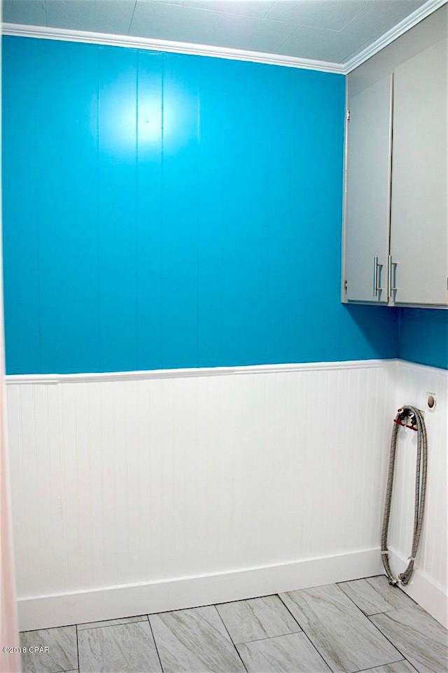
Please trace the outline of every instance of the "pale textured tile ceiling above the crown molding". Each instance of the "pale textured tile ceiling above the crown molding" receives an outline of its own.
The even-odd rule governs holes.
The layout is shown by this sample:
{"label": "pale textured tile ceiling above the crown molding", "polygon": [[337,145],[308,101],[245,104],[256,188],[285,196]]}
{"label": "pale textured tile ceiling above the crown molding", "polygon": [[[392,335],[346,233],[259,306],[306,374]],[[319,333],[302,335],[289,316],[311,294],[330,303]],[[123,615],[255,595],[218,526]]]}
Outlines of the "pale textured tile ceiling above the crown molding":
{"label": "pale textured tile ceiling above the crown molding", "polygon": [[345,63],[425,0],[3,0],[3,22]]}

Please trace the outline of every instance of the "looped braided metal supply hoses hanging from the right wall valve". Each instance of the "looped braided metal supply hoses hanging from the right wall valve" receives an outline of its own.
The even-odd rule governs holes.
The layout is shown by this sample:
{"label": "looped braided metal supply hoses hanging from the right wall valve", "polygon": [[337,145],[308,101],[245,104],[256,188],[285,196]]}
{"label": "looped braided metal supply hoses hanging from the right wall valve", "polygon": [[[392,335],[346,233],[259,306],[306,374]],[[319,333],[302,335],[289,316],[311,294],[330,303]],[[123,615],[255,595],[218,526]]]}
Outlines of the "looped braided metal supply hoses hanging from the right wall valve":
{"label": "looped braided metal supply hoses hanging from the right wall valve", "polygon": [[[406,405],[398,410],[393,423],[392,437],[391,437],[391,454],[389,458],[389,471],[387,477],[386,489],[386,503],[384,505],[383,529],[381,531],[381,558],[383,561],[384,570],[389,580],[389,584],[397,585],[398,579],[395,578],[389,566],[388,548],[387,548],[387,533],[389,526],[389,517],[391,514],[392,502],[392,488],[393,488],[393,473],[395,470],[395,453],[397,449],[397,437],[403,419],[412,419],[412,425],[416,426],[417,431],[417,455],[416,455],[416,470],[415,470],[415,501],[414,501],[414,534],[412,536],[412,550],[409,557],[409,564],[407,569],[398,575],[398,579],[402,585],[407,585],[412,571],[414,570],[414,562],[416,551],[419,546],[421,526],[423,524],[423,513],[425,511],[425,493],[426,493],[426,465],[428,462],[428,441],[426,438],[425,421],[419,409]],[[412,426],[405,426],[412,427]]]}

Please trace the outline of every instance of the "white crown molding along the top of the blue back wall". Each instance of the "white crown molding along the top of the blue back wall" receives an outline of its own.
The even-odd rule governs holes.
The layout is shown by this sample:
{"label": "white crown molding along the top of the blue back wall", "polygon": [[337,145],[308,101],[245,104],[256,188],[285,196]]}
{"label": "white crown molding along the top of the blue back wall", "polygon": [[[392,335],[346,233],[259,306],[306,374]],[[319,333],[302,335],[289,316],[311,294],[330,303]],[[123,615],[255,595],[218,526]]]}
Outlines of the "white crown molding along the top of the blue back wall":
{"label": "white crown molding along the top of the blue back wall", "polygon": [[265,54],[243,49],[208,46],[204,44],[190,44],[169,40],[153,40],[146,37],[130,35],[112,35],[108,33],[94,33],[83,30],[69,30],[65,28],[47,28],[45,26],[27,26],[15,23],[3,23],[3,35],[20,37],[35,37],[46,40],[62,40],[66,42],[87,42],[92,44],[106,44],[109,46],[146,49],[149,51],[166,51],[169,53],[191,54],[195,56],[211,56],[230,60],[252,61],[271,65],[283,65],[290,68],[307,70],[321,70],[344,74],[344,67],[340,63],[317,61],[295,56],[279,54]]}

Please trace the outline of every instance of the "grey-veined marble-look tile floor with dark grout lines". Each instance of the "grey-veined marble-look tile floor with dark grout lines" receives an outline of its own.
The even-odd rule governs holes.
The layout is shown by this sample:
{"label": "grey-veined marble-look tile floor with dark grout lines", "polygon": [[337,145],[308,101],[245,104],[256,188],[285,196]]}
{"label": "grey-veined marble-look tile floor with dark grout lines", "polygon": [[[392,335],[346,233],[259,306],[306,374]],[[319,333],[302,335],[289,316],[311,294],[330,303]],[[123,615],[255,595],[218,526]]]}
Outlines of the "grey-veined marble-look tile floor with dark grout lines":
{"label": "grey-veined marble-look tile floor with dark grout lines", "polygon": [[385,576],[20,634],[24,673],[447,673],[448,632]]}

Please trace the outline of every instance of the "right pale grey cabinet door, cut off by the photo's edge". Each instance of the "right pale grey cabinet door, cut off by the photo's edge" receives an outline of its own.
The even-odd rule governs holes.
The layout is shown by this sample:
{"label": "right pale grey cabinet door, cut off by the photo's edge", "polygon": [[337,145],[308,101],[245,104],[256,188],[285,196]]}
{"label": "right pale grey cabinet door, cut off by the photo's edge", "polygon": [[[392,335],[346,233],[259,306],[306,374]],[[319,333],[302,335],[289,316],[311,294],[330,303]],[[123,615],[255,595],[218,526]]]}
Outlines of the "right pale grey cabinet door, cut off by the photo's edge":
{"label": "right pale grey cabinet door, cut off by the photo's edge", "polygon": [[447,305],[447,41],[397,67],[393,89],[393,299]]}

